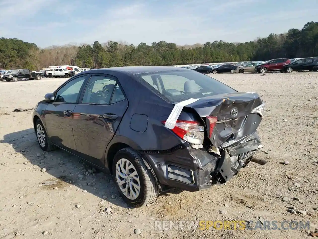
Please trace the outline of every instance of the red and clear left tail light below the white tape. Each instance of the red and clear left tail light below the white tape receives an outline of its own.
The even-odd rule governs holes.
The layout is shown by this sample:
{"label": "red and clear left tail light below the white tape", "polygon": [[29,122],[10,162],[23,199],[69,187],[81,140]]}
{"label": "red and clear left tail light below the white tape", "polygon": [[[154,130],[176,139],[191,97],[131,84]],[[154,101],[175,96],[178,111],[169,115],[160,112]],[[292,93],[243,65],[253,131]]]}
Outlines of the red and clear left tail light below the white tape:
{"label": "red and clear left tail light below the white tape", "polygon": [[[165,124],[166,121],[162,121]],[[203,144],[204,126],[197,121],[177,120],[175,127],[171,129],[181,139],[192,144]]]}

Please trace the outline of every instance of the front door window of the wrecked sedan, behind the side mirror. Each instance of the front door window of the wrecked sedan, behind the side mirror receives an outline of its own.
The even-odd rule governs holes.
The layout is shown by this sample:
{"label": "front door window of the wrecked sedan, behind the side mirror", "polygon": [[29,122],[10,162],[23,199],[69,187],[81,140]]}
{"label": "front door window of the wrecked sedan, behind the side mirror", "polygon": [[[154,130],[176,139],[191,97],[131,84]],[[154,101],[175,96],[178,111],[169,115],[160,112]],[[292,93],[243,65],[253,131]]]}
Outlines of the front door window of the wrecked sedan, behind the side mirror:
{"label": "front door window of the wrecked sedan, behind the side mirror", "polygon": [[62,88],[60,88],[56,92],[54,102],[76,103],[77,98],[79,97],[80,89],[85,81],[85,78],[86,76],[82,75],[66,83]]}

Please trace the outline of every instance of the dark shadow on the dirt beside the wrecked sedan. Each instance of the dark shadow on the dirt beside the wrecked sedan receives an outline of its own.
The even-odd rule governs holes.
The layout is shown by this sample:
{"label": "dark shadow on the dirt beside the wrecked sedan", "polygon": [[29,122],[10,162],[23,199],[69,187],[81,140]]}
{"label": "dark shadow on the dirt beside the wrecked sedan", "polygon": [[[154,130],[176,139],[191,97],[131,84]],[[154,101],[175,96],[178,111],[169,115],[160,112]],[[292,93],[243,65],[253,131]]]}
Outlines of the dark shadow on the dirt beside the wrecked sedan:
{"label": "dark shadow on the dirt beside the wrecked sedan", "polygon": [[[99,172],[64,150],[42,151],[33,128],[6,134],[1,143],[10,144],[16,152],[22,154],[29,161],[24,162],[26,164],[24,166],[33,165],[33,167],[26,168],[33,170],[45,168],[45,172],[52,175],[51,179],[38,182],[38,186],[43,189],[73,185],[81,191],[86,190],[87,193],[114,205],[131,208],[119,195],[111,175]],[[32,170],[30,170],[30,177],[32,177]]]}

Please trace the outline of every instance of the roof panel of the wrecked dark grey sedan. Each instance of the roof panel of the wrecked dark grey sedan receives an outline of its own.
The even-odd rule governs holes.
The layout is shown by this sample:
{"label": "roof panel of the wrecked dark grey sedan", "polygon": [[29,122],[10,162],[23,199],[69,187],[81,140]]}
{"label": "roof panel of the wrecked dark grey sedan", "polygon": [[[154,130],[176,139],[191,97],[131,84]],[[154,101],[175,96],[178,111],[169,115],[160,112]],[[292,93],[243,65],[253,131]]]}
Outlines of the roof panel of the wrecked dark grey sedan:
{"label": "roof panel of the wrecked dark grey sedan", "polygon": [[86,70],[85,72],[81,72],[79,74],[88,74],[88,73],[105,73],[110,72],[118,72],[118,73],[126,73],[126,75],[136,75],[142,73],[156,73],[161,71],[175,71],[175,70],[184,70],[181,67],[173,67],[173,66],[122,66],[122,67],[110,67],[110,68],[102,68],[102,69],[93,69]]}

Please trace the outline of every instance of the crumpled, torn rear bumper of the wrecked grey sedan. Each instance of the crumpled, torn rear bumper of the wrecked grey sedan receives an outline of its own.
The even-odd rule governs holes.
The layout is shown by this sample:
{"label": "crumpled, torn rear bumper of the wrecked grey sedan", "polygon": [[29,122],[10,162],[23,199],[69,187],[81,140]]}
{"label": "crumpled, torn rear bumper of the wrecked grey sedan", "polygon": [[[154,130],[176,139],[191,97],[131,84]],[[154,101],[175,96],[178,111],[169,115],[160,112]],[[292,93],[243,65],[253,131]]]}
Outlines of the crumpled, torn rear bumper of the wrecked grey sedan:
{"label": "crumpled, torn rear bumper of the wrecked grey sedan", "polygon": [[145,151],[144,156],[161,185],[185,191],[201,191],[229,181],[252,161],[252,155],[262,147],[257,133],[254,133],[222,148],[220,155],[189,146],[170,153]]}

